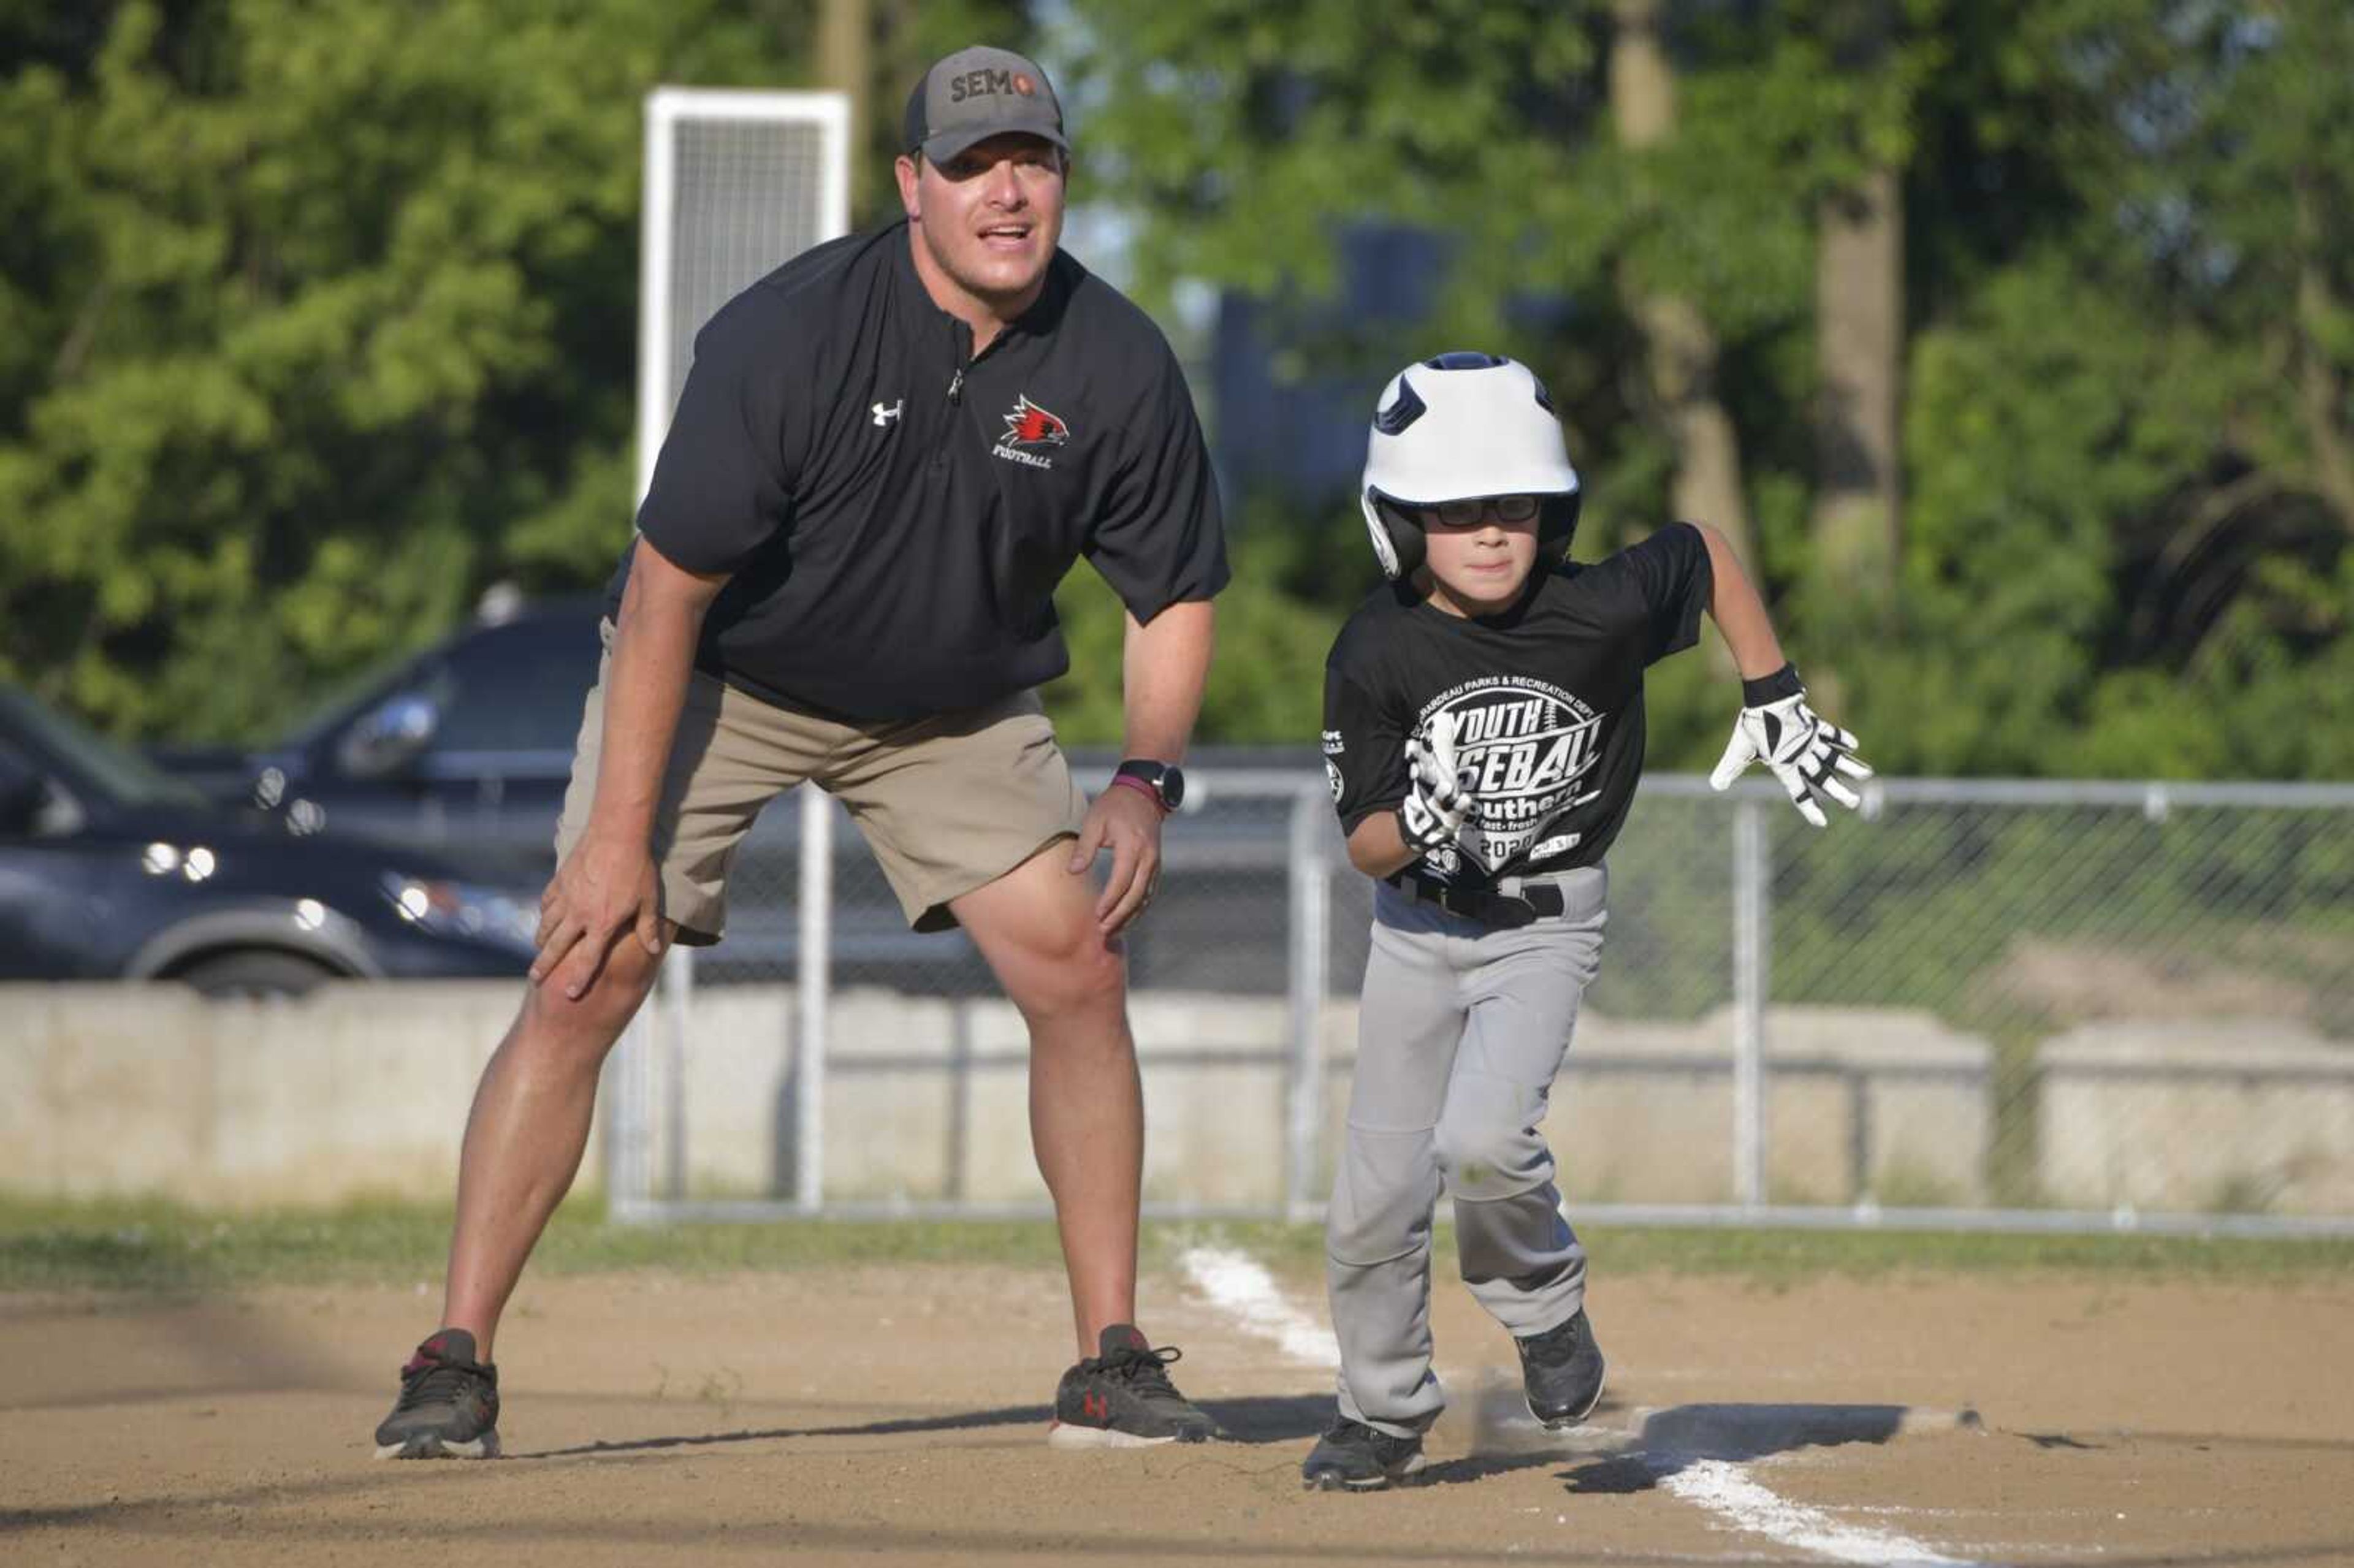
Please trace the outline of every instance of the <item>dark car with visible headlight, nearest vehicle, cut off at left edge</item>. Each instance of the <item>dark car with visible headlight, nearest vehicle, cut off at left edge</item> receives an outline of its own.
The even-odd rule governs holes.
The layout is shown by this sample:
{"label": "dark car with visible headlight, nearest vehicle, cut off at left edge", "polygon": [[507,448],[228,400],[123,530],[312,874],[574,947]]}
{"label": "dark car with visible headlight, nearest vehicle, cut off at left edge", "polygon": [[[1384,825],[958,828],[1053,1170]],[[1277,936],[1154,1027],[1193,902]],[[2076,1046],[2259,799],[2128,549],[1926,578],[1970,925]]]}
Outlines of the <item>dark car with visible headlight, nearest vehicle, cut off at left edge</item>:
{"label": "dark car with visible headlight, nearest vehicle, cut off at left edge", "polygon": [[537,890],[398,845],[224,810],[0,687],[0,982],[523,975]]}

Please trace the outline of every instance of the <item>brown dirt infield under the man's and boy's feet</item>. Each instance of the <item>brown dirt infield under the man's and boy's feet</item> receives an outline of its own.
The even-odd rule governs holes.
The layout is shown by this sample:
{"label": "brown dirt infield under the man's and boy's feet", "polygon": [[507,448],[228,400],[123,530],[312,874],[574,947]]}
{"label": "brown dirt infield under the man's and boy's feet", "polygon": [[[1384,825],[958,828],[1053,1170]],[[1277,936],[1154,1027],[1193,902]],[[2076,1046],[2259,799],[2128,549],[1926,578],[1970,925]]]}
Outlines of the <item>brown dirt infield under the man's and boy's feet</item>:
{"label": "brown dirt infield under the man's and boy's feet", "polygon": [[1330,1370],[1269,1311],[1321,1326],[1314,1278],[1151,1281],[1238,1441],[1085,1455],[1043,1443],[1055,1274],[527,1281],[494,1464],[370,1460],[421,1293],[0,1297],[0,1561],[2354,1563],[2349,1283],[1605,1267],[1589,1429],[1448,1285],[1431,1483],[1368,1497],[1297,1481]]}

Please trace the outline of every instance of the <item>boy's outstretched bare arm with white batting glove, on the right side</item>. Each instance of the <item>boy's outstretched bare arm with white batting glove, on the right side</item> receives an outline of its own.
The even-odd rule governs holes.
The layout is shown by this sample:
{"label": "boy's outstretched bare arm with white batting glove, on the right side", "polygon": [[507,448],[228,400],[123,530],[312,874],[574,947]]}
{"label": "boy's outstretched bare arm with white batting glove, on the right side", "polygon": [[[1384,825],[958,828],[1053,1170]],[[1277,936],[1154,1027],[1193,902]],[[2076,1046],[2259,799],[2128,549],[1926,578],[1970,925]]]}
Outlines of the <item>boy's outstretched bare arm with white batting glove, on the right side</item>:
{"label": "boy's outstretched bare arm with white batting glove, on the right side", "polygon": [[[1709,775],[1709,786],[1730,789],[1749,763],[1766,763],[1773,777],[1789,791],[1791,805],[1815,826],[1827,826],[1820,800],[1836,800],[1848,810],[1862,803],[1846,779],[1869,779],[1871,768],[1855,756],[1855,737],[1834,723],[1824,723],[1806,704],[1806,687],[1798,671],[1782,657],[1782,640],[1766,619],[1766,600],[1742,570],[1740,558],[1721,532],[1707,523],[1695,523],[1709,546],[1709,614],[1725,633],[1733,664],[1742,671],[1742,713],[1733,720],[1733,739],[1725,756]],[[1846,777],[1841,777],[1846,775]]]}

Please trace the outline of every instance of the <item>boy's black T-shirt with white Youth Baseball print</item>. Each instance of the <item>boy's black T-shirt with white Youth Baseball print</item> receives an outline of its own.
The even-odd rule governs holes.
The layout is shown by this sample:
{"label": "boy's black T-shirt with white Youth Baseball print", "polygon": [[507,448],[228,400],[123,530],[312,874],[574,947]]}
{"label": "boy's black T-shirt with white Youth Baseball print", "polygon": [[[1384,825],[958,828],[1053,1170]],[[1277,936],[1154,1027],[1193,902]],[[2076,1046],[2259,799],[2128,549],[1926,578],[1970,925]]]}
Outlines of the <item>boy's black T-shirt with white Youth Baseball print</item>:
{"label": "boy's black T-shirt with white Youth Baseball print", "polygon": [[1643,669],[1700,638],[1714,589],[1690,523],[1594,565],[1542,572],[1502,614],[1448,614],[1403,584],[1342,626],[1325,659],[1325,772],[1342,829],[1405,800],[1405,737],[1457,725],[1471,815],[1419,876],[1467,892],[1591,866],[1643,772]]}

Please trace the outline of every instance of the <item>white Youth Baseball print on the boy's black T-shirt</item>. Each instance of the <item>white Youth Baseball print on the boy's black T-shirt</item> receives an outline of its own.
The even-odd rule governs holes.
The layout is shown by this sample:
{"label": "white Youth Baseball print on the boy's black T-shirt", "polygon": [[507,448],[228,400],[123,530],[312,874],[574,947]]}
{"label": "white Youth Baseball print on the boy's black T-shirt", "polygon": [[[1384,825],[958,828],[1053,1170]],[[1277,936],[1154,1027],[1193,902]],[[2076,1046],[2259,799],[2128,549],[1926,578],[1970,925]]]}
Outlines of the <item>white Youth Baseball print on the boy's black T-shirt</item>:
{"label": "white Youth Baseball print on the boy's black T-shirt", "polygon": [[[1563,812],[1601,796],[1580,784],[1601,760],[1603,716],[1551,680],[1464,680],[1424,704],[1419,723],[1438,713],[1455,720],[1455,765],[1471,791],[1457,843],[1490,873],[1547,836]],[[1575,843],[1575,833],[1558,833],[1540,848],[1558,855]]]}

